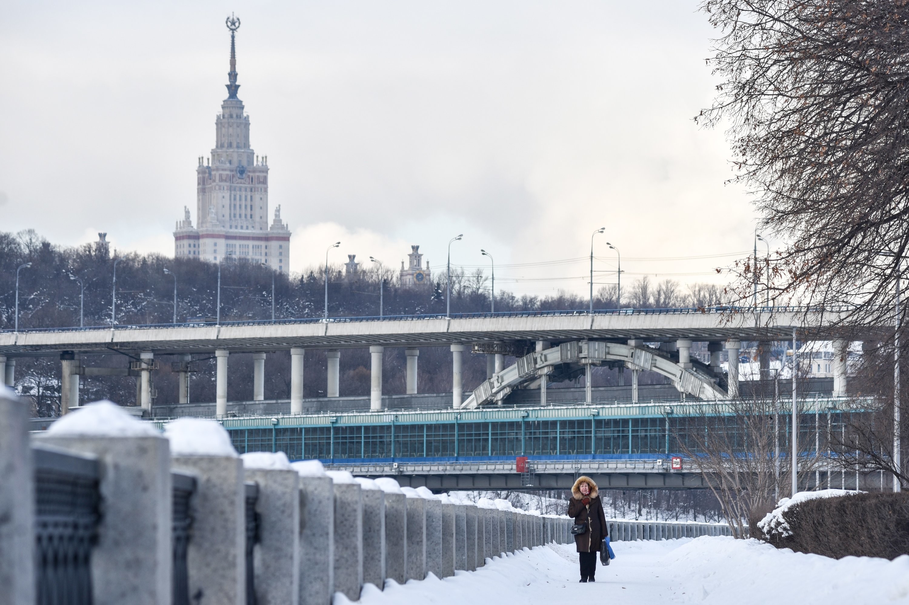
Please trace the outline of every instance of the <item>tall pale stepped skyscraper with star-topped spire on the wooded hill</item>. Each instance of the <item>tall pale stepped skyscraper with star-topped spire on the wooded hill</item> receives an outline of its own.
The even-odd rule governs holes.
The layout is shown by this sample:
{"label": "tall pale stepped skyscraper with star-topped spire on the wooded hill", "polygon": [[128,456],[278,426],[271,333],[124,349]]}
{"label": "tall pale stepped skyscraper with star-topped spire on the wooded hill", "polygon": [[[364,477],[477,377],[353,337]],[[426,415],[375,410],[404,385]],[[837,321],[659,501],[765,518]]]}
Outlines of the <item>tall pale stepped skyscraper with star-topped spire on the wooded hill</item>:
{"label": "tall pale stepped skyscraper with star-topped spire on the wooded hill", "polygon": [[236,30],[240,19],[226,20],[230,30],[230,72],[227,98],[215,116],[215,148],[196,166],[196,223],[177,223],[175,255],[221,263],[245,258],[275,271],[290,270],[290,231],[281,221],[280,206],[268,224],[268,156],[250,146],[249,115],[237,96]]}

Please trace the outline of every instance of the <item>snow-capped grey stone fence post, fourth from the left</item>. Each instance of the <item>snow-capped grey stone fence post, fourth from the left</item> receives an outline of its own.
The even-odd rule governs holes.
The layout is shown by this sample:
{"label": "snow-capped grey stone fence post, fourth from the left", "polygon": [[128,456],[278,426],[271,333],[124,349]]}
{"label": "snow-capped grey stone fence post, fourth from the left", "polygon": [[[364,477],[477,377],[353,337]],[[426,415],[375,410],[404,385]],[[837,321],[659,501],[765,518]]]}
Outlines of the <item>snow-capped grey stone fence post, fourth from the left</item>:
{"label": "snow-capped grey stone fence post, fourth from the left", "polygon": [[283,451],[255,451],[240,458],[245,481],[259,486],[255,600],[292,603],[300,594],[300,478]]}

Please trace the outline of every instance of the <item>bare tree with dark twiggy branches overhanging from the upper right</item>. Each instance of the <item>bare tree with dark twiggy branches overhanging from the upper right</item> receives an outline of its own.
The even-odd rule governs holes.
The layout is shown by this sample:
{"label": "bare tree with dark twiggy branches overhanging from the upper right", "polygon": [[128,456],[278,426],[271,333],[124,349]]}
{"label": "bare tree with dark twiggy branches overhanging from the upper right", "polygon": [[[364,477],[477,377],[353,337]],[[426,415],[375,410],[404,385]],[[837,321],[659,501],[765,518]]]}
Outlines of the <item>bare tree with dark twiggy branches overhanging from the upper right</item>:
{"label": "bare tree with dark twiggy branches overhanging from the upper right", "polygon": [[734,267],[738,298],[765,283],[777,301],[849,305],[843,322],[892,321],[909,246],[905,0],[701,7],[720,32],[709,64],[721,84],[696,119],[729,124],[735,180],[786,243]]}

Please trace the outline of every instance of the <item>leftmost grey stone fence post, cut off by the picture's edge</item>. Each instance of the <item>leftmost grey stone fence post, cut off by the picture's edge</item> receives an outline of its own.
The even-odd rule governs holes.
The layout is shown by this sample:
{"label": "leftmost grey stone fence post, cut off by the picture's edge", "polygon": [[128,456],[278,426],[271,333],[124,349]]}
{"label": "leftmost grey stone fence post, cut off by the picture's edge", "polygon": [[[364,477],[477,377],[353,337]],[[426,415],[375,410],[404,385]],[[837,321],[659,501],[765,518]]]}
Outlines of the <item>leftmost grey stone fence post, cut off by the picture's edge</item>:
{"label": "leftmost grey stone fence post, cut off by the picture's edge", "polygon": [[0,604],[35,602],[35,469],[28,405],[0,380]]}

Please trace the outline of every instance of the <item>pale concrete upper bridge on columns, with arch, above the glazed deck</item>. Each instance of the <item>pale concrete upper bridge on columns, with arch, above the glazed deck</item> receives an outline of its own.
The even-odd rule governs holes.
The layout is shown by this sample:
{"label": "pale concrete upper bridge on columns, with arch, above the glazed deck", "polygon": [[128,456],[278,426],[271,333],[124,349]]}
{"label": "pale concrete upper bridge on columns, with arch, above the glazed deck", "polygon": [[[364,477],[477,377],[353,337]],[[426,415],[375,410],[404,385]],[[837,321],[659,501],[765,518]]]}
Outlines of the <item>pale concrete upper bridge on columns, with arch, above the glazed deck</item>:
{"label": "pale concrete upper bridge on columns, with arch, above the glazed deck", "polygon": [[[228,358],[232,352],[254,352],[254,401],[264,399],[267,352],[291,353],[291,412],[303,412],[303,367],[307,350],[325,351],[326,394],[337,397],[339,359],[347,348],[368,346],[372,355],[371,408],[382,409],[382,360],[385,347],[406,350],[406,392],[416,394],[420,347],[447,346],[452,353],[452,407],[473,408],[500,402],[516,388],[541,392],[555,378],[576,376],[591,366],[607,365],[632,371],[632,399],[637,401],[637,374],[649,370],[669,378],[679,392],[694,398],[721,400],[738,392],[738,351],[743,340],[788,340],[794,331],[800,340],[830,339],[825,326],[840,319],[837,312],[810,312],[799,308],[617,310],[587,312],[505,312],[452,315],[414,315],[387,318],[337,318],[284,320],[281,322],[228,322],[174,325],[136,325],[42,329],[0,332],[0,364],[5,380],[13,382],[15,359],[57,356],[61,360],[61,407],[66,412],[78,401],[80,375],[125,373],[138,382],[139,400],[151,412],[152,372],[156,358],[180,356],[174,362],[180,373],[180,402],[186,402],[188,355],[214,353],[217,359],[216,414],[227,410]],[[852,340],[874,338],[866,328],[850,334]],[[879,335],[877,335],[880,337]],[[660,343],[660,349],[644,346]],[[710,363],[694,360],[693,342],[707,342]],[[840,340],[840,346],[847,342]],[[467,346],[487,354],[487,378],[464,399],[463,353]],[[85,368],[80,356],[125,352],[134,358],[125,369]],[[721,376],[720,353],[729,352],[728,375]],[[504,367],[504,358],[517,361]],[[845,362],[834,362],[834,394],[845,392]],[[588,380],[589,384],[590,381]],[[591,398],[586,398],[590,403]]]}

